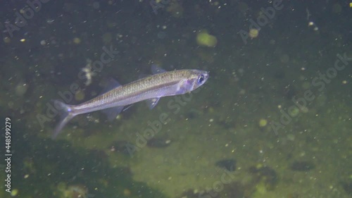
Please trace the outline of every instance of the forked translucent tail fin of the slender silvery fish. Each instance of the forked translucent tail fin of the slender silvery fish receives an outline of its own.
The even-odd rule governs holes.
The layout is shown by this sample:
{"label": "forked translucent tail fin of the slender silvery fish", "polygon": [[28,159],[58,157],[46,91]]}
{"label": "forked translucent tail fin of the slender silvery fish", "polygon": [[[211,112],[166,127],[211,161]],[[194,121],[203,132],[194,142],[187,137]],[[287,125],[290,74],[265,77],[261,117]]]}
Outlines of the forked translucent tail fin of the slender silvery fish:
{"label": "forked translucent tail fin of the slender silvery fish", "polygon": [[60,121],[58,125],[56,125],[51,138],[54,140],[58,134],[61,132],[61,130],[65,127],[65,125],[73,118],[76,116],[75,113],[73,113],[73,106],[68,105],[63,103],[62,101],[54,100],[54,105],[56,106],[56,109],[58,109],[59,114],[60,114]]}

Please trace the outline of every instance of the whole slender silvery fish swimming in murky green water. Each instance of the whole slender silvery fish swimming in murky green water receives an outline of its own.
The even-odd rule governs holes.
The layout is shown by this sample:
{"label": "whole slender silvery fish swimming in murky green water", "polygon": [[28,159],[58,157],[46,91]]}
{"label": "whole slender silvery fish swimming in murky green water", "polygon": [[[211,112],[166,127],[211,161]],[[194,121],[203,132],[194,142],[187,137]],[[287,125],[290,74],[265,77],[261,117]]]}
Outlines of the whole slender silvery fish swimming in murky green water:
{"label": "whole slender silvery fish swimming in murky green water", "polygon": [[[65,125],[75,116],[102,110],[113,120],[118,114],[139,101],[146,101],[149,109],[153,109],[161,97],[186,94],[204,85],[209,78],[205,70],[185,69],[166,71],[156,65],[151,66],[152,75],[144,76],[125,85],[110,80],[110,85],[102,94],[82,104],[70,105],[54,100],[54,106],[61,118],[54,128],[51,138],[55,139]],[[128,108],[127,107],[127,108]]]}

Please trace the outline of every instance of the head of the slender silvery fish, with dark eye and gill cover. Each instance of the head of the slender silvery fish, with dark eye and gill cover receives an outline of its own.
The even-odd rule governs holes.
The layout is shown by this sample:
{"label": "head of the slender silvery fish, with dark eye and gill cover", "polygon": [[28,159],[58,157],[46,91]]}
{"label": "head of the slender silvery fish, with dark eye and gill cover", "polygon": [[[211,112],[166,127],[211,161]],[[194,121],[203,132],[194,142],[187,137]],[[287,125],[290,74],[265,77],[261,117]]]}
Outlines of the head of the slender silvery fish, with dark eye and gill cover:
{"label": "head of the slender silvery fish, with dark eye and gill cover", "polygon": [[191,92],[208,80],[209,74],[204,70],[189,70],[186,78],[180,82],[180,89],[183,93]]}

